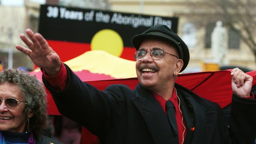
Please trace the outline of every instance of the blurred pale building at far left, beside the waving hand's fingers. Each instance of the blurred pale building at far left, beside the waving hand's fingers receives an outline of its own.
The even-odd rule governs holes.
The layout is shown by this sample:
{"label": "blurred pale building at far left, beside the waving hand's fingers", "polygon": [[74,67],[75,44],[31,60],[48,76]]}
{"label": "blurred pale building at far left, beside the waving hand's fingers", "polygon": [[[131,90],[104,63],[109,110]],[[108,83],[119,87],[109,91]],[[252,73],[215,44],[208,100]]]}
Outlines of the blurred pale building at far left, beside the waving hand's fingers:
{"label": "blurred pale building at far left, beside the waving hand's fingers", "polygon": [[28,64],[28,57],[15,48],[15,44],[22,44],[20,33],[24,33],[27,24],[24,6],[0,5],[0,61],[4,68],[17,66],[32,67]]}

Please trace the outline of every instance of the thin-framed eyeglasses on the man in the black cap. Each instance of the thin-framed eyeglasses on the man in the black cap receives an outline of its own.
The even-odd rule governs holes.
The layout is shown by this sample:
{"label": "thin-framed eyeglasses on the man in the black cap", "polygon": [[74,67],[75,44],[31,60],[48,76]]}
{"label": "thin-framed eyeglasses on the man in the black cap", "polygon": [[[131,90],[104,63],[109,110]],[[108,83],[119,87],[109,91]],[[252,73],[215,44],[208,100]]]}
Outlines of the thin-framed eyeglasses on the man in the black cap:
{"label": "thin-framed eyeglasses on the man in the black cap", "polygon": [[[143,57],[145,57],[147,55],[147,53],[150,53],[150,56],[152,57],[152,59],[154,60],[160,60],[163,58],[164,54],[169,54],[167,52],[164,52],[163,50],[152,50],[151,52],[146,52],[145,50],[138,50],[134,53],[134,58],[137,61],[140,61]],[[169,54],[169,55],[173,55],[173,54]],[[176,55],[173,55],[174,57],[177,57]]]}

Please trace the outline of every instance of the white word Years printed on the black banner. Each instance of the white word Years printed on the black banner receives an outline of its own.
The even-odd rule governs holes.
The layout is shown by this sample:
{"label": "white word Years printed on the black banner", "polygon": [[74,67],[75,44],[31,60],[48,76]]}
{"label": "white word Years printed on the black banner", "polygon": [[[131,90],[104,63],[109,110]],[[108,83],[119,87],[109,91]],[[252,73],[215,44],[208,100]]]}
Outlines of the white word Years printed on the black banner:
{"label": "white word Years printed on the black banner", "polygon": [[83,20],[82,11],[69,11],[65,7],[60,7],[60,18],[70,19],[70,20]]}

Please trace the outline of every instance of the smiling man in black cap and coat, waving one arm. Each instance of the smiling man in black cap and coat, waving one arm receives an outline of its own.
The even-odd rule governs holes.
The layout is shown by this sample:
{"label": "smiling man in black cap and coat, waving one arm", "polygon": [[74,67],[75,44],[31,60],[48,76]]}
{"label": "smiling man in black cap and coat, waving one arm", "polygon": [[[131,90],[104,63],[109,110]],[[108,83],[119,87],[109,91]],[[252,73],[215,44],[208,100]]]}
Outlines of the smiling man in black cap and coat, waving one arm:
{"label": "smiling man in black cap and coat, waving one arm", "polygon": [[132,43],[139,84],[135,90],[110,85],[104,91],[83,83],[45,39],[26,30],[29,47],[16,48],[43,68],[43,82],[61,114],[82,124],[103,144],[250,144],[256,100],[252,77],[231,72],[234,92],[230,128],[216,103],[175,83],[189,62],[187,45],[165,25],[152,26]]}

